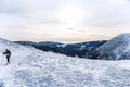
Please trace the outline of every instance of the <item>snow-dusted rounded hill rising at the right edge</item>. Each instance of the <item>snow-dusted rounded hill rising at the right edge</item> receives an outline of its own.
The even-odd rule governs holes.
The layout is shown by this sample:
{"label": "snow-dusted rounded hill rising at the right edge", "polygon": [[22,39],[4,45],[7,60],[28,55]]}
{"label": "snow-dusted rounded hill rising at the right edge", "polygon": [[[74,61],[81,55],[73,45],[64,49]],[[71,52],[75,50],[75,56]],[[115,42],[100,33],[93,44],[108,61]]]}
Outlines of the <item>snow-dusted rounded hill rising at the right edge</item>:
{"label": "snow-dusted rounded hill rising at the right edge", "polygon": [[130,59],[130,34],[121,34],[113,38],[94,50],[91,55],[91,59],[103,60]]}

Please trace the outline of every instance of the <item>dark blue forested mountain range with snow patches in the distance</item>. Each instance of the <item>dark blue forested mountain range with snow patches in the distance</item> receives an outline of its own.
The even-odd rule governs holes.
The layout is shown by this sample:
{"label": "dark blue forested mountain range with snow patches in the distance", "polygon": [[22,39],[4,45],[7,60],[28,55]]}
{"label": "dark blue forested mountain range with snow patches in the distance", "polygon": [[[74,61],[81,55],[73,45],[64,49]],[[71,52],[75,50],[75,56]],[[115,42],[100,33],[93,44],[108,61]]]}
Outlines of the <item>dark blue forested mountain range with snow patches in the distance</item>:
{"label": "dark blue forested mountain range with snow patches in the distance", "polygon": [[89,42],[81,42],[81,44],[60,44],[53,41],[42,41],[42,42],[31,42],[31,41],[15,41],[16,44],[25,45],[25,46],[32,46],[37,49],[42,51],[53,51],[56,53],[63,53],[69,57],[80,57],[86,58],[90,51],[94,50],[95,48],[104,45],[106,40],[102,41],[89,41]]}

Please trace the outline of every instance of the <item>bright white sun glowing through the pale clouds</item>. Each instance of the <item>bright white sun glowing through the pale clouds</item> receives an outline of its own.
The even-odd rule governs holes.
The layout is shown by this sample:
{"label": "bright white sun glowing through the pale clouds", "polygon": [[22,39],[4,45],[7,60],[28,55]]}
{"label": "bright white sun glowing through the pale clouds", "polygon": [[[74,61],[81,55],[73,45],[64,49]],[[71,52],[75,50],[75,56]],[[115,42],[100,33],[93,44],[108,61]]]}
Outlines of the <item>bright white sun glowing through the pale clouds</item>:
{"label": "bright white sun glowing through the pale clouds", "polygon": [[60,20],[66,23],[66,26],[76,27],[82,18],[82,9],[77,4],[67,4],[61,9]]}

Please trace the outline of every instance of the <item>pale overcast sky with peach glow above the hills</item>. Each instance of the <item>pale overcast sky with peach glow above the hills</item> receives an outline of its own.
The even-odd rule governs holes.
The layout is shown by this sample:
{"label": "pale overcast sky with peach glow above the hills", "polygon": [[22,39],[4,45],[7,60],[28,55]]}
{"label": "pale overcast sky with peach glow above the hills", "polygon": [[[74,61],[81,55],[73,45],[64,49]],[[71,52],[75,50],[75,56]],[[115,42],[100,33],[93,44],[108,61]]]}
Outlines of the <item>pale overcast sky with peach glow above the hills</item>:
{"label": "pale overcast sky with peach glow above the hills", "polygon": [[0,37],[79,42],[130,33],[130,0],[0,0]]}

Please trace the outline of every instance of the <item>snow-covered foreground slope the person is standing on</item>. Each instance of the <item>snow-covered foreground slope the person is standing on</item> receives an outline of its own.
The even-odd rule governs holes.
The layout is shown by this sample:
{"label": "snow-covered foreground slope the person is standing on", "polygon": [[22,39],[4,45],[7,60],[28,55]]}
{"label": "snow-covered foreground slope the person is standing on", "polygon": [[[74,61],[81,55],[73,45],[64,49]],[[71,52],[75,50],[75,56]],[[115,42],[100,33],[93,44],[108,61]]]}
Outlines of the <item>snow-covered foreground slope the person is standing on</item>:
{"label": "snow-covered foreground slope the person is standing on", "polygon": [[[5,49],[12,51],[4,65]],[[70,58],[0,39],[1,87],[130,87],[130,61]]]}

